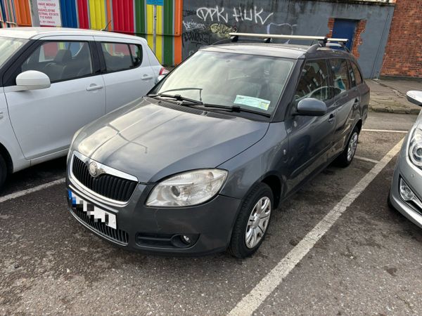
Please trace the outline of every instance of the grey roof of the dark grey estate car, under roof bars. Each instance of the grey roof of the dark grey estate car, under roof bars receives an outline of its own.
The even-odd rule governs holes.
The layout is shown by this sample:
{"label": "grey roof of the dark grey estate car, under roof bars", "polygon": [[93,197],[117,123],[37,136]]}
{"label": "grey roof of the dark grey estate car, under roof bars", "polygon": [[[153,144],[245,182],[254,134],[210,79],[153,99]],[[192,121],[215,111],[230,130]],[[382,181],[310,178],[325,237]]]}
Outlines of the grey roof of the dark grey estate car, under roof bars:
{"label": "grey roof of the dark grey estate car, under roof bars", "polygon": [[214,51],[217,53],[238,53],[247,55],[260,55],[269,57],[282,57],[290,59],[304,58],[350,58],[351,54],[346,51],[321,47],[317,50],[309,51],[310,46],[294,44],[275,43],[234,43],[205,46],[200,51]]}

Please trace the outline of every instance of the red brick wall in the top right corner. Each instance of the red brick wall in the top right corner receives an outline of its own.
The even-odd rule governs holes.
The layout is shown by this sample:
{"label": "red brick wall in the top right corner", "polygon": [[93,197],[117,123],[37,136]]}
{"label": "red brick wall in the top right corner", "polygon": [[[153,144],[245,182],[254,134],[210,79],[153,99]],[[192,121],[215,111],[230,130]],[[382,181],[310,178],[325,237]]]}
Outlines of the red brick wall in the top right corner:
{"label": "red brick wall in the top right corner", "polygon": [[397,0],[381,75],[422,78],[422,0]]}

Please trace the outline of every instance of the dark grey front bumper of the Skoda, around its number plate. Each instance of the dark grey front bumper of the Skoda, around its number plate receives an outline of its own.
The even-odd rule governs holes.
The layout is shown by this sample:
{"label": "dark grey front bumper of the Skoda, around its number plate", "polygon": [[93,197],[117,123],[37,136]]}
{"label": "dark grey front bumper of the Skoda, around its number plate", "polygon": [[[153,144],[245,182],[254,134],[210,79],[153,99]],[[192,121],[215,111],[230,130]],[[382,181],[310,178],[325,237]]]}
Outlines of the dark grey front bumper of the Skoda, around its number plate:
{"label": "dark grey front bumper of the Skoda, around its number plate", "polygon": [[[172,255],[205,255],[224,251],[229,245],[241,200],[217,195],[210,202],[184,208],[145,206],[153,185],[136,187],[134,195],[123,206],[113,205],[92,195],[89,190],[67,179],[68,190],[98,209],[116,216],[117,229],[101,221],[94,222],[68,198],[69,210],[79,223],[99,237],[130,251]],[[182,236],[191,244],[181,242]]]}

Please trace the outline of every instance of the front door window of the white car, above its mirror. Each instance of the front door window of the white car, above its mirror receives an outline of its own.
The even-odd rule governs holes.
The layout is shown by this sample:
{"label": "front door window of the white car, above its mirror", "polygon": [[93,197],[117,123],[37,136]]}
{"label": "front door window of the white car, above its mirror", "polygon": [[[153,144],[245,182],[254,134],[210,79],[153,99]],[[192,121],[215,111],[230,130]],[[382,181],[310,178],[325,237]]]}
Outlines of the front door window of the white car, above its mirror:
{"label": "front door window of the white car, above its mirror", "polygon": [[51,83],[76,79],[93,73],[87,41],[46,41],[30,55],[20,71],[37,70]]}

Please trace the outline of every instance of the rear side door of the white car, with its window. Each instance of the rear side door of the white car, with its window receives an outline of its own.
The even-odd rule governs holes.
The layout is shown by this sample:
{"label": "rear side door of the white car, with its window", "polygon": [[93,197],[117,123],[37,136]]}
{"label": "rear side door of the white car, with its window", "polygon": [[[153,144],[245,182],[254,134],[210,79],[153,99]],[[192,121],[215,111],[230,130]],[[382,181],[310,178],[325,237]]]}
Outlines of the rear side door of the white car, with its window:
{"label": "rear side door of the white car, with its window", "polygon": [[155,74],[140,41],[110,37],[95,39],[103,62],[107,112],[145,96],[153,88]]}

